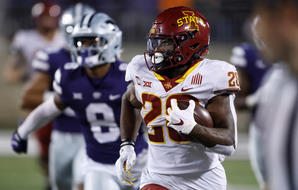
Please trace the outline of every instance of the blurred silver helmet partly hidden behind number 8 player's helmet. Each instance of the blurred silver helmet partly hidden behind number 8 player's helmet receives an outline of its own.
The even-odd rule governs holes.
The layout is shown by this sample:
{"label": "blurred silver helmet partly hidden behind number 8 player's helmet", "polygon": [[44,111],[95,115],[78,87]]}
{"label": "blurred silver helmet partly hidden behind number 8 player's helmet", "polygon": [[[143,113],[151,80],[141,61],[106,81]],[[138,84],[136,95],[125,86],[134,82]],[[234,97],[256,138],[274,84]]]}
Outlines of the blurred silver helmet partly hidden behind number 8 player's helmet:
{"label": "blurred silver helmet partly hidden behind number 8 player's helmet", "polygon": [[69,36],[74,30],[75,23],[79,22],[83,15],[94,12],[95,10],[92,7],[80,2],[63,11],[59,19],[59,28],[65,38],[67,48],[70,48]]}

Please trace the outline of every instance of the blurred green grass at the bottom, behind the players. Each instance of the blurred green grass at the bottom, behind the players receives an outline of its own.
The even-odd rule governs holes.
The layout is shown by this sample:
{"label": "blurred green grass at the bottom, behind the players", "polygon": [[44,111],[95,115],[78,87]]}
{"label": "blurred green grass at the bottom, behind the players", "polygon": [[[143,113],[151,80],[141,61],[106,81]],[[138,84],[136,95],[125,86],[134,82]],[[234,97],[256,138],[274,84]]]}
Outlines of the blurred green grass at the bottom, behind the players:
{"label": "blurred green grass at the bottom, behind the players", "polygon": [[[229,185],[256,186],[249,161],[224,161]],[[36,158],[0,157],[1,190],[41,190],[43,178]]]}

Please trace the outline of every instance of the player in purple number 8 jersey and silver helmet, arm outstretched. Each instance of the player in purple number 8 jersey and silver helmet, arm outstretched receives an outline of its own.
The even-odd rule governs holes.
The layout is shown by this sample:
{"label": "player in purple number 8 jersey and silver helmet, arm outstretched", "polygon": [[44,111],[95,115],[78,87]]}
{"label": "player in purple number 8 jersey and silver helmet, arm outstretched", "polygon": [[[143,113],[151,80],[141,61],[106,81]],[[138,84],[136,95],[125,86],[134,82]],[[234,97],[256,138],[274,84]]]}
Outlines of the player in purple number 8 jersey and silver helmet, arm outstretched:
{"label": "player in purple number 8 jersey and silver helmet, arm outstretched", "polygon": [[[77,63],[56,72],[54,97],[39,105],[12,136],[16,152],[26,152],[28,134],[61,114],[67,106],[75,111],[86,141],[83,163],[84,189],[133,189],[117,179],[121,97],[127,89],[127,63],[120,57],[122,32],[104,13],[84,15],[74,27],[71,53]],[[141,119],[141,118],[137,118]],[[147,166],[147,142],[142,131],[135,144],[138,161],[134,172],[141,176]]]}

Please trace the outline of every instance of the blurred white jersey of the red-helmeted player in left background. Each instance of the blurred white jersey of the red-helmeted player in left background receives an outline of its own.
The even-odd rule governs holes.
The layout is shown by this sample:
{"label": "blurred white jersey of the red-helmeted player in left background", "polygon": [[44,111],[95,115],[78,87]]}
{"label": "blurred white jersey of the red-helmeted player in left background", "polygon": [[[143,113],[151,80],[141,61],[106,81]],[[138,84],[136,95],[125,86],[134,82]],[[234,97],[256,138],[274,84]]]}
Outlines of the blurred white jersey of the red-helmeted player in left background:
{"label": "blurred white jersey of the red-helmeted player in left background", "polygon": [[31,70],[31,62],[38,50],[44,48],[62,48],[64,45],[65,40],[59,30],[55,32],[52,40],[48,40],[37,29],[29,29],[16,32],[11,43],[11,49],[12,51],[22,52],[27,61],[28,70]]}

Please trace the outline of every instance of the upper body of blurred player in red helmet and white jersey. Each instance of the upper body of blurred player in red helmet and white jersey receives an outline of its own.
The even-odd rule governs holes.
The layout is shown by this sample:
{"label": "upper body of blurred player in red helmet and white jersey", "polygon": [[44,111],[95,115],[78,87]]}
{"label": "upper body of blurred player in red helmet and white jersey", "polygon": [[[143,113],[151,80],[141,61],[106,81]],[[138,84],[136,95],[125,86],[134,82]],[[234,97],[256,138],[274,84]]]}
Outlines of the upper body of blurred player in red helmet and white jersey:
{"label": "upper body of blurred player in red helmet and white jersey", "polygon": [[38,2],[31,9],[36,28],[20,29],[11,43],[4,77],[8,82],[21,82],[32,73],[31,63],[35,53],[43,48],[64,46],[64,39],[58,30],[61,7],[51,2]]}

